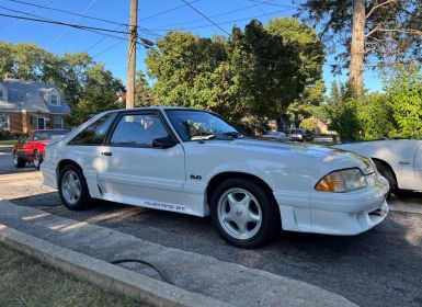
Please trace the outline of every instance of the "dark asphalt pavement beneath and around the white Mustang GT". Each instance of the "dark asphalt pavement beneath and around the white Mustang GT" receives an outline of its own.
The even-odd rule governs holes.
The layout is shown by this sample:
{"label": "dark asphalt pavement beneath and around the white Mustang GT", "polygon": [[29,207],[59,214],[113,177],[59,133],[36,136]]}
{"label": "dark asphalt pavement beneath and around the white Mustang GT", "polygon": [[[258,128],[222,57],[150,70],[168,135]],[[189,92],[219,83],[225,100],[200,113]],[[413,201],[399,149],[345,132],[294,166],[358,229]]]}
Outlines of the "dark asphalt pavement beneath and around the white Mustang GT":
{"label": "dark asphalt pavement beneath and around the white Mustang GT", "polygon": [[[10,162],[9,156],[0,155],[0,173]],[[23,175],[26,174],[19,177]],[[304,281],[361,306],[422,306],[421,213],[390,212],[383,224],[355,237],[282,232],[270,246],[242,250],[225,243],[208,218],[104,202],[84,212],[70,212],[60,204],[57,192],[42,185],[35,172],[25,180],[5,180],[0,175],[0,197],[163,246]],[[415,211],[422,208],[421,198],[391,200],[395,203],[408,204]]]}

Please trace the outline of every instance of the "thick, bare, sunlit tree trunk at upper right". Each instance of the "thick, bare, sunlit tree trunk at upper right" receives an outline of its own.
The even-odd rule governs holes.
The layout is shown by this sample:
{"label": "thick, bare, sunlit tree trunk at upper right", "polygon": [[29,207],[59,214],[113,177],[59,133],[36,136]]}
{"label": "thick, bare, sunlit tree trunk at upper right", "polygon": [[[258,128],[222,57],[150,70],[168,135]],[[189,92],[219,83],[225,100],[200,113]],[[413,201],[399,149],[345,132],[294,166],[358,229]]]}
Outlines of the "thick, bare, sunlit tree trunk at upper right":
{"label": "thick, bare, sunlit tree trunk at upper right", "polygon": [[349,84],[355,95],[363,93],[363,72],[365,57],[365,0],[353,0],[353,29]]}

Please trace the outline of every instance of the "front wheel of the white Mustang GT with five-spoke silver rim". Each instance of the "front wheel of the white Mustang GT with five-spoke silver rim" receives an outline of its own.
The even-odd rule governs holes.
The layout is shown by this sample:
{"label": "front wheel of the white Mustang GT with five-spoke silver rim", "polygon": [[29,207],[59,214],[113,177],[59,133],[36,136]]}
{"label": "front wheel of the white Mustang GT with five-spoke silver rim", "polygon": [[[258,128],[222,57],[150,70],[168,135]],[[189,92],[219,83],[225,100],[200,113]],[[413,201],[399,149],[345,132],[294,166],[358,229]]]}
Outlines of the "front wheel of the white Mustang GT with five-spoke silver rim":
{"label": "front wheel of the white Mustang GT with five-spoke silver rim", "polygon": [[240,178],[217,186],[210,196],[210,216],[221,238],[240,248],[269,243],[281,229],[278,207],[272,197],[259,184]]}

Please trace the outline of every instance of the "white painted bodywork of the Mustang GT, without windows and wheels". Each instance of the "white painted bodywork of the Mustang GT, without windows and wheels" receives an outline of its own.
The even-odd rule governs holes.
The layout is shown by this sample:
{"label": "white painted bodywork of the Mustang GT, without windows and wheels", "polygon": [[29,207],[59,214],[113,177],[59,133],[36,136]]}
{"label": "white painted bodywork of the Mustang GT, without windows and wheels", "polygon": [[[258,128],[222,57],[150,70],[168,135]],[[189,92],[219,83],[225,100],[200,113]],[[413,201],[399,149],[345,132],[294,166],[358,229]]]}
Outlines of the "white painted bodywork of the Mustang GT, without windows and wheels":
{"label": "white painted bodywork of the Mustang GT, without windows and wheels", "polygon": [[[358,168],[367,177],[374,172],[369,159],[329,147],[244,138],[181,141],[170,149],[67,145],[104,114],[47,148],[45,184],[56,187],[57,164],[70,159],[81,166],[92,197],[205,216],[209,181],[238,172],[258,177],[272,189],[286,230],[355,235],[387,215],[384,178],[349,193],[315,191],[318,181],[335,170]],[[369,215],[375,209],[381,209],[381,216]]]}

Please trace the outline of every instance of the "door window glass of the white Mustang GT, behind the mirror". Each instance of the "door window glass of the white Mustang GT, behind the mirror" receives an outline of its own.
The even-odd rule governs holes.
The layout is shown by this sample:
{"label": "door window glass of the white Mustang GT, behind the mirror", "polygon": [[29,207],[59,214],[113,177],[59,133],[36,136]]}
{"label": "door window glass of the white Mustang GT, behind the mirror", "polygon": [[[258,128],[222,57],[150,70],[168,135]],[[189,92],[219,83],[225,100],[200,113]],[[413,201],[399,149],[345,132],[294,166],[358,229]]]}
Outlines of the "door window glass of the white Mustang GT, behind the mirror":
{"label": "door window glass of the white Mustang GT, behind the mirror", "polygon": [[111,146],[152,147],[156,138],[168,136],[158,115],[124,115],[110,140]]}

